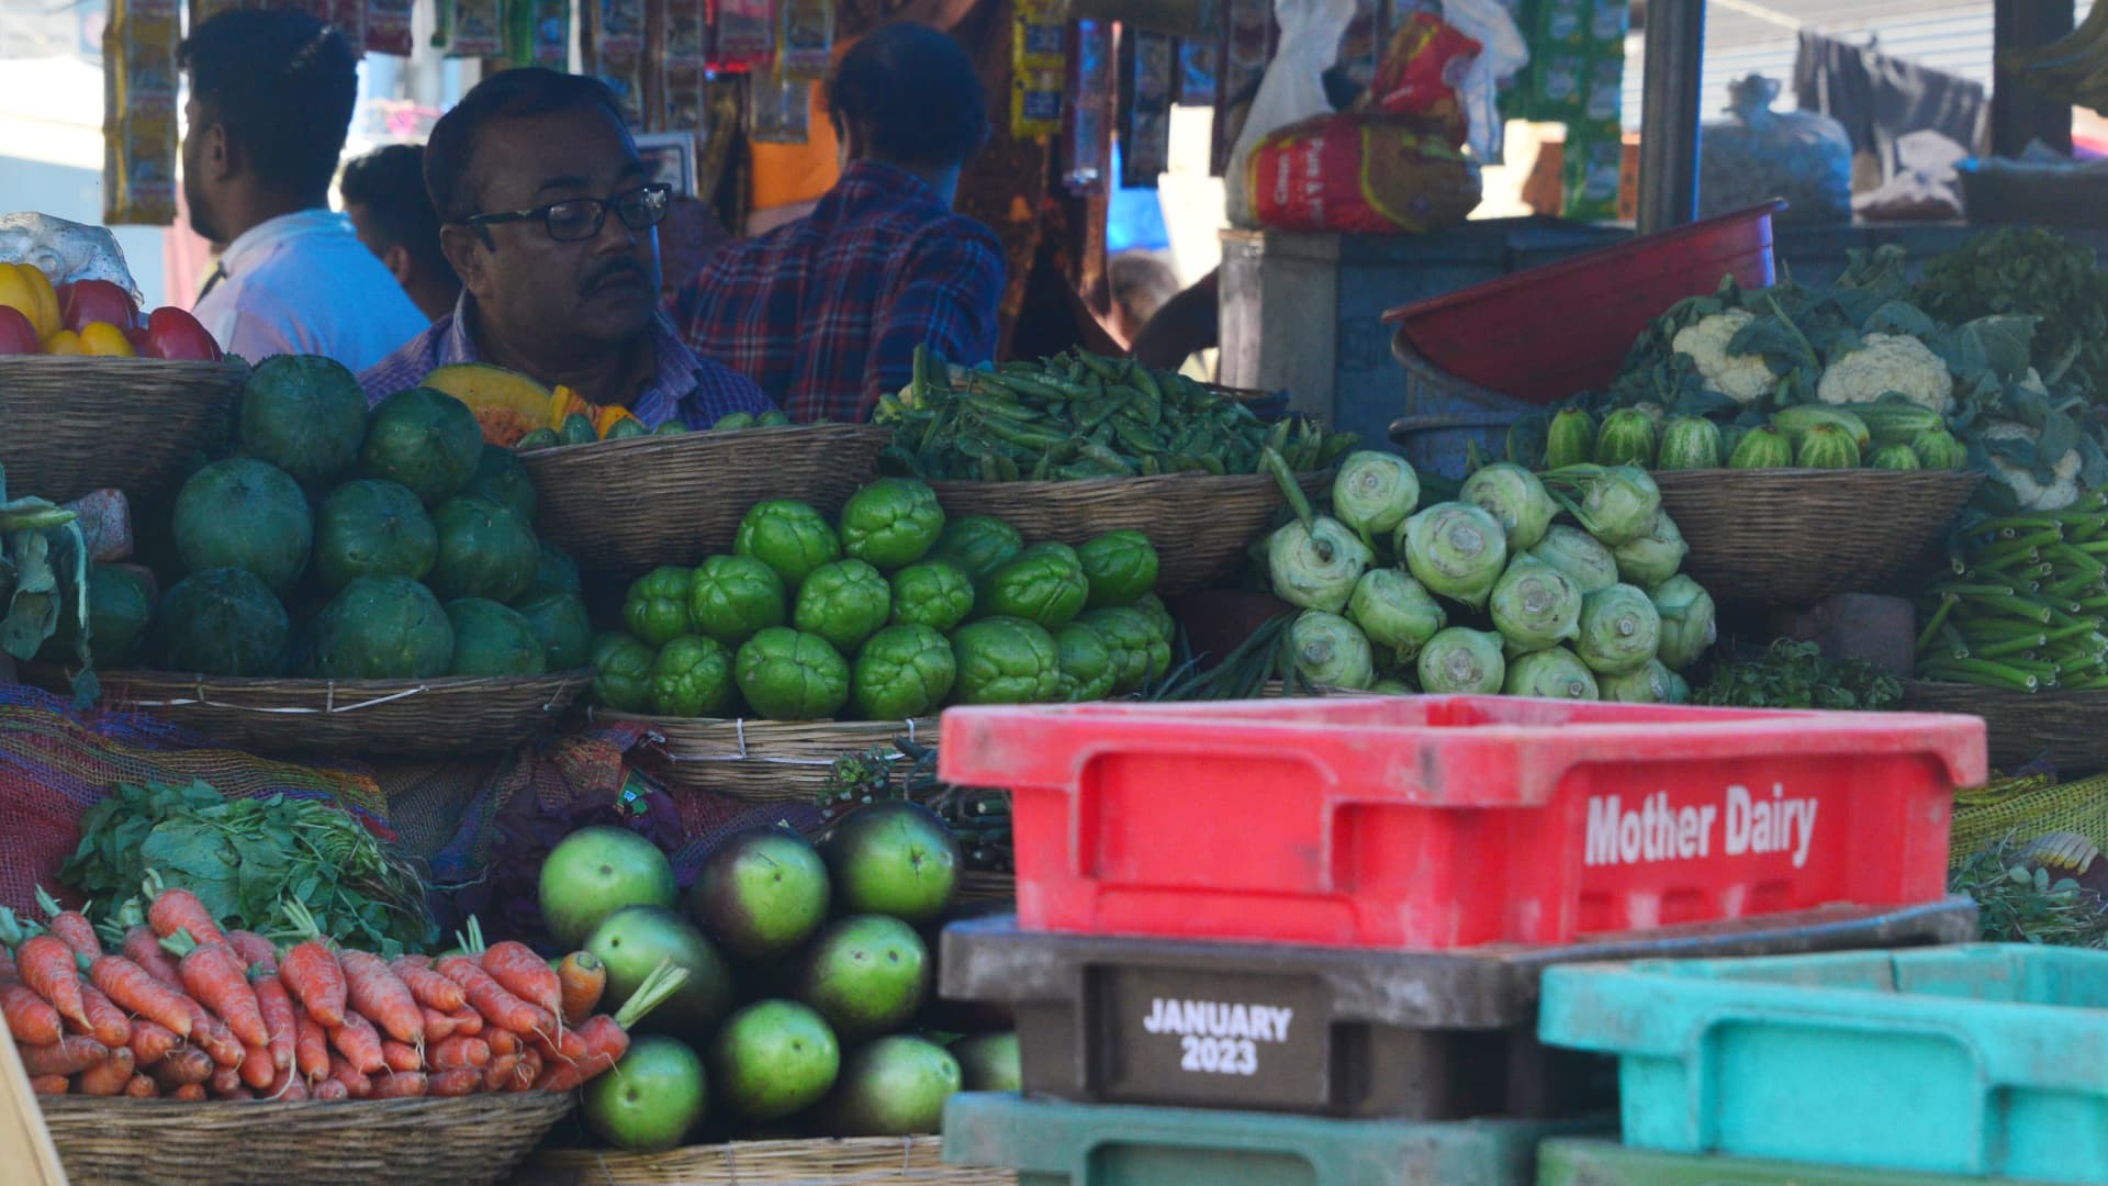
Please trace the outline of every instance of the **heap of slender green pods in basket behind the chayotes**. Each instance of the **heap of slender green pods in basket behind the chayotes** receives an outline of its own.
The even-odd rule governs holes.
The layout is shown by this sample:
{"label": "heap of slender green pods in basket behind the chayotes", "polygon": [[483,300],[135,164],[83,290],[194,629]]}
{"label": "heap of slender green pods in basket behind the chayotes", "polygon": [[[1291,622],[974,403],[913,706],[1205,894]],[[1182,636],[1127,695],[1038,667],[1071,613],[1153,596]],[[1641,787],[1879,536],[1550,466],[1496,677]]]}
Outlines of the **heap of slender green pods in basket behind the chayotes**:
{"label": "heap of slender green pods in basket behind the chayotes", "polygon": [[1315,471],[1358,439],[1309,418],[1269,426],[1231,395],[1084,350],[963,369],[917,348],[913,382],[879,399],[877,422],[894,428],[879,473],[934,481],[1258,473],[1267,445]]}

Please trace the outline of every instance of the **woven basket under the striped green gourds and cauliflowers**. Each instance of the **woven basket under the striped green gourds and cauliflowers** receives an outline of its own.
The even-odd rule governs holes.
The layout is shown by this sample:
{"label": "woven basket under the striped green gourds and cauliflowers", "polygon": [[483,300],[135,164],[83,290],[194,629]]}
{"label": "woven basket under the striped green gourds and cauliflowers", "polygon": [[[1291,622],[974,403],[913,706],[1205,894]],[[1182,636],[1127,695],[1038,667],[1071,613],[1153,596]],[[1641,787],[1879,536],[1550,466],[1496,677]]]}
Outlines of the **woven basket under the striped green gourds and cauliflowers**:
{"label": "woven basket under the striped green gourds and cauliflowers", "polygon": [[1880,591],[1925,555],[1979,473],[1701,468],[1657,473],[1661,506],[1691,555],[1684,572],[1720,601],[1813,606]]}

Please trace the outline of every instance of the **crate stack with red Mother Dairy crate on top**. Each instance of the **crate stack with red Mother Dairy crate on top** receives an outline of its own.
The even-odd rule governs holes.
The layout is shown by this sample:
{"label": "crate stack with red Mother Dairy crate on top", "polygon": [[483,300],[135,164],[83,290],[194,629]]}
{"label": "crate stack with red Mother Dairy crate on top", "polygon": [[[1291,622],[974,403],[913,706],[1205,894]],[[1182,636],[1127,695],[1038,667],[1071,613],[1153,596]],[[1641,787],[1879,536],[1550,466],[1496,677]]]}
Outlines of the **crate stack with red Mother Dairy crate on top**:
{"label": "crate stack with red Mother Dairy crate on top", "polygon": [[1022,1095],[944,1156],[1020,1186],[1524,1186],[1613,1133],[1539,1040],[1554,964],[1954,943],[1969,718],[1417,696],[944,713],[1012,791],[1016,918],[940,992],[1016,1011]]}

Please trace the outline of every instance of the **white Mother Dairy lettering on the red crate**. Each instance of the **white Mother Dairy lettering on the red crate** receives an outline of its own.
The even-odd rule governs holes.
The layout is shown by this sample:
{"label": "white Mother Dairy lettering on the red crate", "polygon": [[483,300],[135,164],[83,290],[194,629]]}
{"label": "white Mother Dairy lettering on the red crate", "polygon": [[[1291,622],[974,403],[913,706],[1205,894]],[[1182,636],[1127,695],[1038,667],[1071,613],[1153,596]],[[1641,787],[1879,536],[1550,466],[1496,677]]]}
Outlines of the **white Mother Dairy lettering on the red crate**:
{"label": "white Mother Dairy lettering on the red crate", "polygon": [[1589,796],[1585,865],[1648,865],[1691,861],[1714,853],[1714,823],[1724,823],[1718,850],[1726,857],[1792,853],[1794,867],[1809,863],[1815,840],[1813,798],[1785,798],[1781,783],[1771,798],[1731,785],[1722,804],[1670,806],[1667,791],[1644,796],[1627,808],[1621,796]]}

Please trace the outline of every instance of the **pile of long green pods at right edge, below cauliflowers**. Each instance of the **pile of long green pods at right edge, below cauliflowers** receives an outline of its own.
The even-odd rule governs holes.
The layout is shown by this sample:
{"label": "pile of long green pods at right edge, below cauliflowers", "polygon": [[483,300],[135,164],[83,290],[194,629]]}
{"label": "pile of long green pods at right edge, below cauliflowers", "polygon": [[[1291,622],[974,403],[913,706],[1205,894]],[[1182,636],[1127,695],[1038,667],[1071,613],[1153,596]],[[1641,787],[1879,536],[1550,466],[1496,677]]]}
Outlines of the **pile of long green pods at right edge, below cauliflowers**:
{"label": "pile of long green pods at right edge, below cauliflowers", "polygon": [[2108,494],[1969,528],[1918,606],[1918,675],[2013,692],[2108,690]]}

